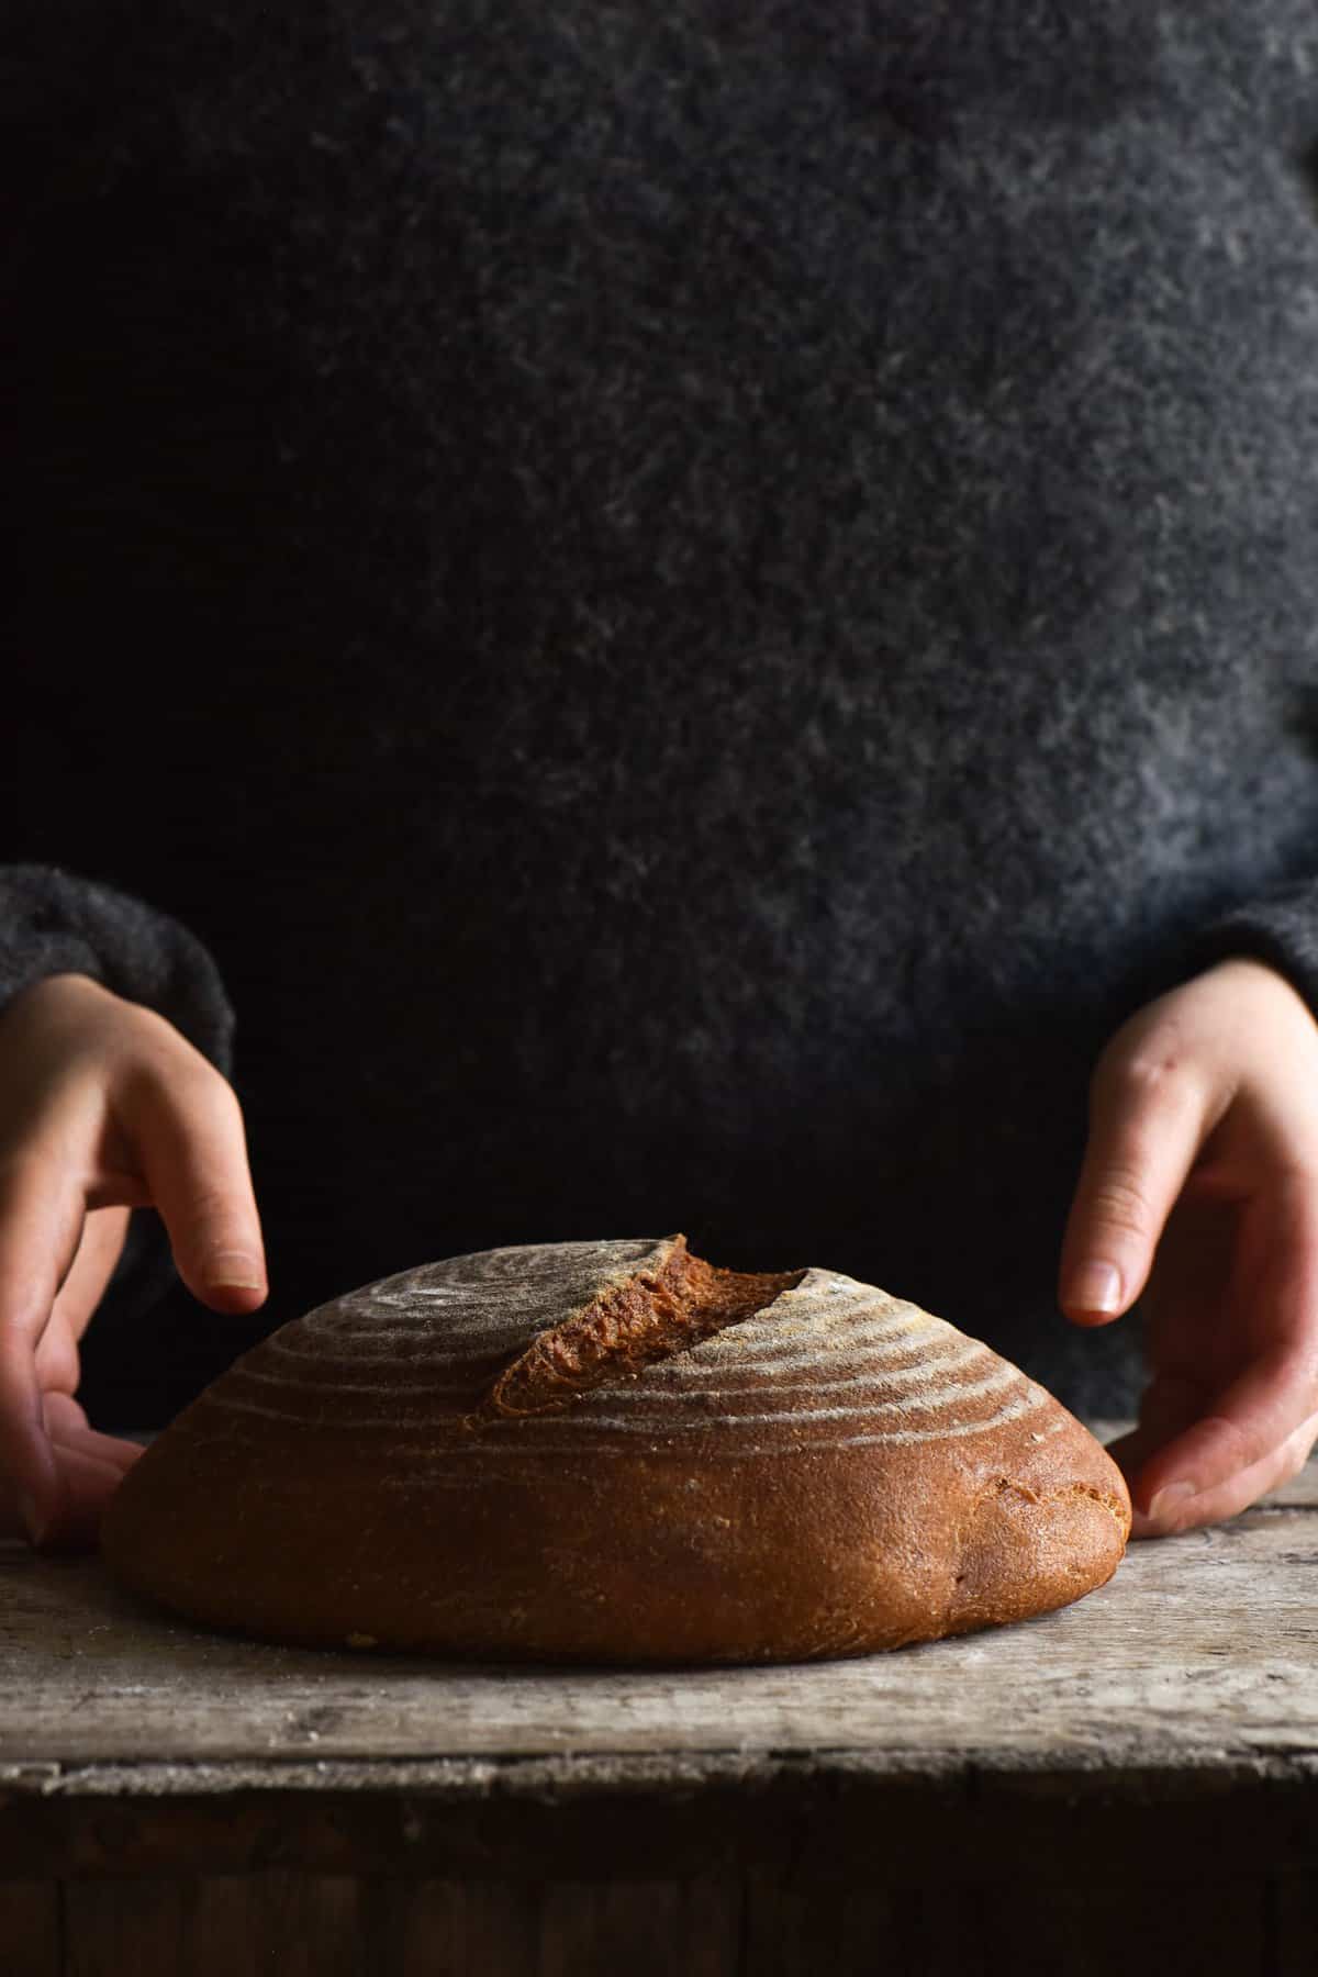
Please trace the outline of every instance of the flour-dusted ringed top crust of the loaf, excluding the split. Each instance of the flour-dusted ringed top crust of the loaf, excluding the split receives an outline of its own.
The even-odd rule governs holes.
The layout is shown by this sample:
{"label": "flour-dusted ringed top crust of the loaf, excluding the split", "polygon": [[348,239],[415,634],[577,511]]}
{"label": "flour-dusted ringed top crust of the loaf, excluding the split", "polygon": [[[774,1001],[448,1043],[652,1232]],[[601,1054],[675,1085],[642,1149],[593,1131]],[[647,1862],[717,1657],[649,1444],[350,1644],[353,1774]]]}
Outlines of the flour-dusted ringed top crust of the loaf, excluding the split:
{"label": "flour-dusted ringed top crust of the loaf, excluding the split", "polygon": [[[583,1445],[622,1449],[638,1437],[654,1451],[700,1443],[701,1457],[757,1459],[937,1441],[994,1431],[1047,1404],[1020,1368],[941,1319],[810,1269],[741,1323],[575,1396],[565,1414],[472,1427],[470,1410],[500,1362],[585,1311],[601,1289],[660,1267],[670,1249],[672,1240],[563,1244],[403,1271],[285,1327],[231,1368],[223,1394],[198,1406],[312,1431],[387,1431],[391,1461],[443,1451],[502,1469],[514,1447],[526,1461]],[[383,1366],[397,1378],[377,1378]],[[371,1398],[393,1406],[371,1410]],[[852,1423],[865,1425],[840,1431]],[[1049,1419],[1033,1439],[1059,1425]]]}

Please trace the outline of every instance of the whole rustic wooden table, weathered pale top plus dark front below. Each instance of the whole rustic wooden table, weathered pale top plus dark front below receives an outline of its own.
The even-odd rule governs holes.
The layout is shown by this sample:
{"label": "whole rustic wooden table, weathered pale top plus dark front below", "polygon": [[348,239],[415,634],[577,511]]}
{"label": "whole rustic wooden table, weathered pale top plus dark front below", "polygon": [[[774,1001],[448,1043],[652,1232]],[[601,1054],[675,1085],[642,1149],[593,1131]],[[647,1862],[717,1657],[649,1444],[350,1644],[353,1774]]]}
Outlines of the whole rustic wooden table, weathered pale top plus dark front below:
{"label": "whole rustic wooden table, weathered pale top plus dark front below", "polygon": [[0,1546],[0,1971],[1314,1977],[1314,1512],[682,1675],[263,1647]]}

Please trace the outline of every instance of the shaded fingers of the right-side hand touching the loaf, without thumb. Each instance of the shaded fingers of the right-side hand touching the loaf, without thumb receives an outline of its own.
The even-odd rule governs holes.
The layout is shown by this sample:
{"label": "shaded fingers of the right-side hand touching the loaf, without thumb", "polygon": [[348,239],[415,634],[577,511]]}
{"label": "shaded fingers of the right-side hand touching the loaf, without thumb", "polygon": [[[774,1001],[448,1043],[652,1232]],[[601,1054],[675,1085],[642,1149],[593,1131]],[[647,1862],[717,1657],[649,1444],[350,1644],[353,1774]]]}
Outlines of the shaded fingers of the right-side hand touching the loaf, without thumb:
{"label": "shaded fingers of the right-side hand touching the loaf, without thumb", "polygon": [[[1249,1210],[1253,1281],[1235,1295],[1259,1313],[1269,1342],[1203,1412],[1144,1461],[1132,1483],[1140,1514],[1164,1524],[1182,1501],[1223,1491],[1267,1463],[1318,1412],[1318,1204],[1306,1178],[1278,1180]],[[1160,1501],[1162,1499],[1162,1501]]]}

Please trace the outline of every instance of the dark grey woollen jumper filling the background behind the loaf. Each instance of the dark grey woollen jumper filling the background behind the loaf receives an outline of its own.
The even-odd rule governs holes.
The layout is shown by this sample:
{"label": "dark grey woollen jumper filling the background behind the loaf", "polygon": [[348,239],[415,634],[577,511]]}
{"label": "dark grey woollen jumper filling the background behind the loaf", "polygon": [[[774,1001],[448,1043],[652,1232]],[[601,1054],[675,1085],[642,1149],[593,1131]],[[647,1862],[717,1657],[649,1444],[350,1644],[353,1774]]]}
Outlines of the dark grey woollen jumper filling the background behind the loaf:
{"label": "dark grey woollen jumper filling the background behind the loaf", "polygon": [[[259,1327],[684,1228],[1128,1404],[1093,1060],[1318,1004],[1312,0],[18,0],[0,73],[0,992],[231,1072]],[[257,1331],[134,1222],[121,1421]]]}

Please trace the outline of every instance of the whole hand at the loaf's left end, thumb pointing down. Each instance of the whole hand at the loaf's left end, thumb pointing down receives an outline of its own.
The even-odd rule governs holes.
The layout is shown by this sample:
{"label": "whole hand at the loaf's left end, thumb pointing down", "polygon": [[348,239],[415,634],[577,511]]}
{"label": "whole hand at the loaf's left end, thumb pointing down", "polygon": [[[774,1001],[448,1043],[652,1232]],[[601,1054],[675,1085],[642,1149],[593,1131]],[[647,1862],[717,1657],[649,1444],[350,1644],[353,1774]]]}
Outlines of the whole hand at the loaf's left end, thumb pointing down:
{"label": "whole hand at the loaf's left end, thumb pointing down", "polygon": [[265,1301],[233,1087],[89,975],[32,983],[0,1014],[0,1530],[93,1544],[142,1453],[97,1433],[73,1394],[128,1216],[148,1206],[194,1297],[231,1313]]}

